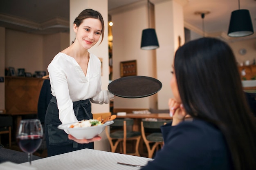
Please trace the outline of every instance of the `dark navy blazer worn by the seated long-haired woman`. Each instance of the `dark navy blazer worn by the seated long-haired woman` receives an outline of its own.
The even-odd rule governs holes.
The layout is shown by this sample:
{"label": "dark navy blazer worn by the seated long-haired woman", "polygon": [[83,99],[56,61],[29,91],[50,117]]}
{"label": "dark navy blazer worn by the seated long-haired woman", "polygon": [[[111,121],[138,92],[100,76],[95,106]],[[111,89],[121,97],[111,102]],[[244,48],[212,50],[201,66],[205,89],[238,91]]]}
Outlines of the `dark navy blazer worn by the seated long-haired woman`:
{"label": "dark navy blazer worn by the seated long-haired woman", "polygon": [[224,136],[215,126],[198,119],[161,127],[164,146],[142,170],[231,170]]}

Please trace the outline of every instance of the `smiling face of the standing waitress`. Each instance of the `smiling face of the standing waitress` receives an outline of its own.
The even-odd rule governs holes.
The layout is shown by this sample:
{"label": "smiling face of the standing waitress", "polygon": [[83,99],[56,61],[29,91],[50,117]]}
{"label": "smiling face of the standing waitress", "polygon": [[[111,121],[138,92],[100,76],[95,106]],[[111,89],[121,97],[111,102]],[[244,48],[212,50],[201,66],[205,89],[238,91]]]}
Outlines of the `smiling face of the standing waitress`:
{"label": "smiling face of the standing waitress", "polygon": [[102,25],[99,19],[86,18],[79,27],[74,24],[73,29],[79,44],[85,49],[90,49],[99,41]]}

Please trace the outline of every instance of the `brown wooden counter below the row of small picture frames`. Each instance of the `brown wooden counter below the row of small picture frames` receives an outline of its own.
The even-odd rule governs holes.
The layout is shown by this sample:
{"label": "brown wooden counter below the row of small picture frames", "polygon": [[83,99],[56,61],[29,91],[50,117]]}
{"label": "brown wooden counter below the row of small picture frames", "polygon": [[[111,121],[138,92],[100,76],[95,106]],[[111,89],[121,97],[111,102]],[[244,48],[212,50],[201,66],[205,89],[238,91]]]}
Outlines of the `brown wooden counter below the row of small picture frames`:
{"label": "brown wooden counter below the row of small picture frames", "polygon": [[38,97],[44,79],[5,77],[6,113],[37,113]]}

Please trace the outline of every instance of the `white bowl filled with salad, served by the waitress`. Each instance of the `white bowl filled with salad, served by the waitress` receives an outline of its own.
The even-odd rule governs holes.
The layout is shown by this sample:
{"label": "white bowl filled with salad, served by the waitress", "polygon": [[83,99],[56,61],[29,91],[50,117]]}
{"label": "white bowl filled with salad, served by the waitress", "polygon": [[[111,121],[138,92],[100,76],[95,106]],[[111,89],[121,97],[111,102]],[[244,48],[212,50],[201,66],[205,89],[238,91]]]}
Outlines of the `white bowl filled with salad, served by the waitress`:
{"label": "white bowl filled with salad, served by the waitress", "polygon": [[69,124],[61,124],[59,129],[65,130],[76,139],[92,139],[100,135],[106,126],[113,124],[114,121],[99,121],[97,119],[82,120]]}

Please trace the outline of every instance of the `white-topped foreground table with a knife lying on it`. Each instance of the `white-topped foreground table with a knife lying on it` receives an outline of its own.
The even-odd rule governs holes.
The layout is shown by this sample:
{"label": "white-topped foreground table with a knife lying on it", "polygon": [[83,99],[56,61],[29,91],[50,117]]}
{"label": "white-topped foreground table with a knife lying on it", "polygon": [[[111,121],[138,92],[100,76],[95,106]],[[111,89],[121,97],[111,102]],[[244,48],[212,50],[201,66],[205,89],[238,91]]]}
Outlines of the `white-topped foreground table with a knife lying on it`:
{"label": "white-topped foreground table with a knife lying on it", "polygon": [[[152,160],[115,152],[82,149],[32,161],[31,167],[36,170],[139,170],[139,167],[121,165],[117,162],[145,166]],[[20,165],[30,167],[29,162]]]}

